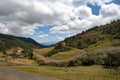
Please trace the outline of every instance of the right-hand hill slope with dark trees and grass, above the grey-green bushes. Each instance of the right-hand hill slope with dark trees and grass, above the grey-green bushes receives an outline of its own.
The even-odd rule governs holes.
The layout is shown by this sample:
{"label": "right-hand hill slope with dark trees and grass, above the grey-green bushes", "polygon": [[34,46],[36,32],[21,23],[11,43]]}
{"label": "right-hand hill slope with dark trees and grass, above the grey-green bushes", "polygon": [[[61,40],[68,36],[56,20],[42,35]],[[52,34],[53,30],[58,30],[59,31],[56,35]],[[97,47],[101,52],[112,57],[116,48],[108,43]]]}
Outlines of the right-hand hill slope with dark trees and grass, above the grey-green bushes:
{"label": "right-hand hill slope with dark trees and grass, above the grey-green bushes", "polygon": [[[114,43],[116,41],[116,43]],[[85,49],[91,45],[119,45],[120,44],[120,20],[110,24],[96,26],[87,31],[83,31],[75,36],[66,38],[63,42],[67,46]],[[105,43],[105,44],[104,44]]]}

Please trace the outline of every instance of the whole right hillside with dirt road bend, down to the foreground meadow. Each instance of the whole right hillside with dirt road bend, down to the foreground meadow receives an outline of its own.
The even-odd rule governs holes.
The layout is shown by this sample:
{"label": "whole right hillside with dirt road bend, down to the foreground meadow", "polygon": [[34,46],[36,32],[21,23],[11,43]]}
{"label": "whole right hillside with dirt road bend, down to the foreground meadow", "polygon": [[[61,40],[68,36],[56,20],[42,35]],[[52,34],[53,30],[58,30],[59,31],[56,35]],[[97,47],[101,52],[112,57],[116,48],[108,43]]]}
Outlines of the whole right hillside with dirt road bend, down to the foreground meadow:
{"label": "whole right hillside with dirt road bend, down to the foreground meadow", "polygon": [[37,53],[49,61],[48,65],[54,66],[109,66],[109,58],[112,59],[111,66],[119,66],[119,31],[120,20],[66,38],[54,45],[54,48],[41,49]]}

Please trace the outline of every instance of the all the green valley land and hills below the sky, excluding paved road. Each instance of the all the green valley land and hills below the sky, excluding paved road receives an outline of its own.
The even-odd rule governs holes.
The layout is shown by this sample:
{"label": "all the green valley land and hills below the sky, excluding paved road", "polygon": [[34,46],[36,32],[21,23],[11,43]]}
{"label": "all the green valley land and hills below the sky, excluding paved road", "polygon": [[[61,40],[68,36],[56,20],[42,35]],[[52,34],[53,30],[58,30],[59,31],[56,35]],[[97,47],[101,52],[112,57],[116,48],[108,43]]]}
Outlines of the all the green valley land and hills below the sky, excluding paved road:
{"label": "all the green valley land and hills below the sky, excluding paved road", "polygon": [[42,75],[54,80],[119,80],[119,25],[120,20],[113,21],[52,46],[41,45],[30,38],[1,34],[0,80],[5,77],[1,75],[3,69]]}

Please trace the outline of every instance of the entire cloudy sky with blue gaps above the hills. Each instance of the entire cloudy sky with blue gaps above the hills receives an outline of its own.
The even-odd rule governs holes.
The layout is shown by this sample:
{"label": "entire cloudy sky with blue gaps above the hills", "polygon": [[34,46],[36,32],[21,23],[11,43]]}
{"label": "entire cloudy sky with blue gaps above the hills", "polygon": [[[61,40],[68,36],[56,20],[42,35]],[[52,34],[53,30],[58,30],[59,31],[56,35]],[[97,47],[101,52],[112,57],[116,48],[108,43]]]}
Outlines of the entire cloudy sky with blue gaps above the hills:
{"label": "entire cloudy sky with blue gaps above the hills", "polygon": [[0,0],[0,33],[53,44],[120,19],[119,0]]}

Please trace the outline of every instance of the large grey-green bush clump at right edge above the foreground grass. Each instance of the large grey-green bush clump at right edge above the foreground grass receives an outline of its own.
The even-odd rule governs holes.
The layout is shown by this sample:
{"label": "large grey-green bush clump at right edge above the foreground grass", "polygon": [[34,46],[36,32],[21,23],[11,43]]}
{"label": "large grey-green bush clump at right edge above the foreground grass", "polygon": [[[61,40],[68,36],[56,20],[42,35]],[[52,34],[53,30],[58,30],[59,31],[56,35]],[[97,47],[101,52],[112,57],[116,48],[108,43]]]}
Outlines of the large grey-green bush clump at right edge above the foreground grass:
{"label": "large grey-green bush clump at right edge above the foreground grass", "polygon": [[89,52],[89,57],[94,59],[95,64],[98,65],[110,65],[110,59],[112,65],[117,65],[120,63],[120,48],[119,47],[108,47],[104,49],[95,50]]}

